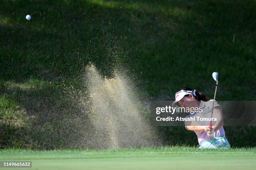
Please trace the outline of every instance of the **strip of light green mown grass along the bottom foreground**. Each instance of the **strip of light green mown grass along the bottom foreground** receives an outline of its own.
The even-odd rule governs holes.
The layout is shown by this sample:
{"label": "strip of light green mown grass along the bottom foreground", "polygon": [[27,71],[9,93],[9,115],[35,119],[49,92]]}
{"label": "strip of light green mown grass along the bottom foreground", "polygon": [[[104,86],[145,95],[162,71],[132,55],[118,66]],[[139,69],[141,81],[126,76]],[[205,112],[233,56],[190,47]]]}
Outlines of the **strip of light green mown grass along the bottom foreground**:
{"label": "strip of light green mown grass along the bottom foreground", "polygon": [[[197,148],[141,148],[120,150],[1,150],[0,160],[32,161],[23,170],[255,170],[256,148],[198,150]],[[17,168],[1,168],[15,169]]]}

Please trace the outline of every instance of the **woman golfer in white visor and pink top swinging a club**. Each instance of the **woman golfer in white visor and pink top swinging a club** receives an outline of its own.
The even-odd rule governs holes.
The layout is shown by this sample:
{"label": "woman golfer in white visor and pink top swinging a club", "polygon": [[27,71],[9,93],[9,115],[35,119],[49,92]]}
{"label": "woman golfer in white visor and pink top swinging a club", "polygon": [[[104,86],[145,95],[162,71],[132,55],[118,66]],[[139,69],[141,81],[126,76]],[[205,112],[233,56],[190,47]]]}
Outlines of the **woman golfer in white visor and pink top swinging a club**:
{"label": "woman golfer in white visor and pink top swinging a club", "polygon": [[[211,117],[212,102],[214,102],[214,109]],[[200,149],[230,148],[230,144],[225,137],[225,131],[223,129],[223,116],[221,106],[218,104],[218,102],[208,100],[207,97],[201,92],[192,90],[189,87],[183,87],[175,94],[175,102],[172,103],[172,107],[176,106],[194,110],[186,116],[194,117],[193,119],[190,119],[194,121],[185,121],[184,123],[187,130],[191,130],[196,133]],[[196,110],[197,112],[195,112]],[[202,118],[204,118],[204,121],[202,121]],[[207,120],[212,120],[212,127],[210,127],[210,120],[205,121],[205,118]]]}

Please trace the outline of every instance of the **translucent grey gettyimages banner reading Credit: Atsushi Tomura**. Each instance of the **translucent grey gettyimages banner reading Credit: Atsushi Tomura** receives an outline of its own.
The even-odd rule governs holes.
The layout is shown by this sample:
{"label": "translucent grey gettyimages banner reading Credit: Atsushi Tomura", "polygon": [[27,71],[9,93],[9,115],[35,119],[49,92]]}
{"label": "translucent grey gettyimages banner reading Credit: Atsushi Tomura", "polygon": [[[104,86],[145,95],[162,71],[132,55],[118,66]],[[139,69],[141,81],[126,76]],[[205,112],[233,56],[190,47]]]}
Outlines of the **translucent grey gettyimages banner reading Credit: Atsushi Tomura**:
{"label": "translucent grey gettyimages banner reading Credit: Atsushi Tomura", "polygon": [[[186,106],[172,106],[174,101],[151,101],[154,126],[209,125],[222,121],[225,126],[255,126],[256,101],[186,101]],[[212,105],[214,110],[212,110]],[[212,112],[213,111],[213,112]]]}

